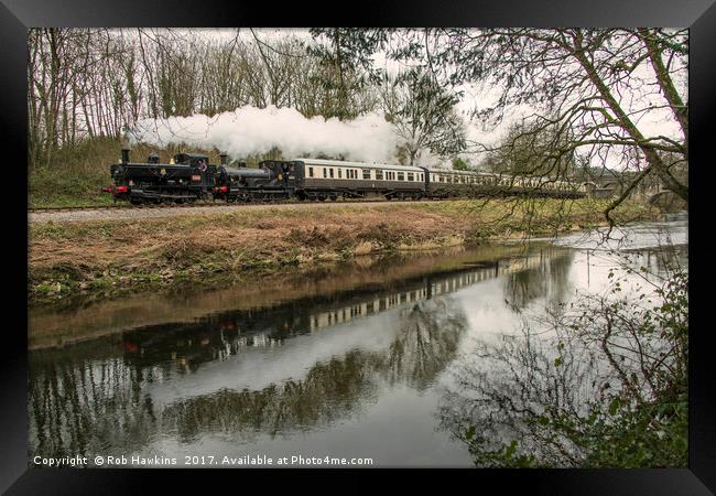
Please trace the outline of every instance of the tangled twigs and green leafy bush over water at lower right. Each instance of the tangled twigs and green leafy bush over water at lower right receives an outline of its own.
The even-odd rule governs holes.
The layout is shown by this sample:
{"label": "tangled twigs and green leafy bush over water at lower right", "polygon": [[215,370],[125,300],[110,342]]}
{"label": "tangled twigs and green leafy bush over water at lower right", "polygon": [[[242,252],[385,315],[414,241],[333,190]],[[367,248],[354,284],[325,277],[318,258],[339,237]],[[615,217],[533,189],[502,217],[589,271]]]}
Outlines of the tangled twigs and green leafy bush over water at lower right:
{"label": "tangled twigs and green leafy bush over water at lower right", "polygon": [[551,312],[541,335],[531,320],[524,336],[479,342],[452,369],[442,428],[480,466],[683,466],[687,278],[639,277],[649,291],[622,298],[618,278]]}

